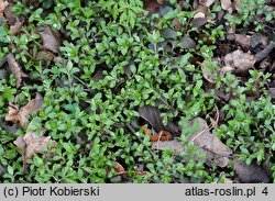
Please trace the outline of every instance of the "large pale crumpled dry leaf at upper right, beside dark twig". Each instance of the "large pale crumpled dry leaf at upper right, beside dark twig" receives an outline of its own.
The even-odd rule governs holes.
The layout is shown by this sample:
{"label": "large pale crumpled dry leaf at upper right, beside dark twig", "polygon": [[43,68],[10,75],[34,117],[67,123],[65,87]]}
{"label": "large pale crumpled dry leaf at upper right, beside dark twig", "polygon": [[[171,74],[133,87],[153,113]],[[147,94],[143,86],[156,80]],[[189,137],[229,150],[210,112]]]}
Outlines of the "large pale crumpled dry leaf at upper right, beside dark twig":
{"label": "large pale crumpled dry leaf at upper right, beside dark twig", "polygon": [[237,74],[248,72],[249,69],[254,67],[256,63],[255,56],[249,53],[243,53],[242,51],[238,49],[233,53],[229,53],[224,57],[226,66],[231,66],[235,68]]}

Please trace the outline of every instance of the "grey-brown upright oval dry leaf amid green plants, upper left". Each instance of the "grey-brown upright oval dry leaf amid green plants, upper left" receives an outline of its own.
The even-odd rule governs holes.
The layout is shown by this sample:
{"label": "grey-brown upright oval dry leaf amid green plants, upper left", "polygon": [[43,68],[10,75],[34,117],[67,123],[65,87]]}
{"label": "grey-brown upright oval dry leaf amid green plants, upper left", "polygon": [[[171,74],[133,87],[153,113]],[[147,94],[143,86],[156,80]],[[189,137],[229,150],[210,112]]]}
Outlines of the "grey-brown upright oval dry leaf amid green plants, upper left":
{"label": "grey-brown upright oval dry leaf amid green plants, upper left", "polygon": [[43,47],[53,53],[58,53],[61,46],[59,33],[54,32],[48,25],[38,30],[38,34],[43,41]]}

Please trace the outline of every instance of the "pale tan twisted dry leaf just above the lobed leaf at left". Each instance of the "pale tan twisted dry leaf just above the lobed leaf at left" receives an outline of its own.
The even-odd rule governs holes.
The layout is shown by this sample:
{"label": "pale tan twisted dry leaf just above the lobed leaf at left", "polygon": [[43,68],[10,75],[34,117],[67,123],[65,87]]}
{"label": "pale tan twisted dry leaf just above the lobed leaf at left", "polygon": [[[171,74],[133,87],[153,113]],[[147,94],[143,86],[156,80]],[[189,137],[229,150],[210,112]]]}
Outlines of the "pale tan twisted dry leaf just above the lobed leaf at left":
{"label": "pale tan twisted dry leaf just above the lobed leaf at left", "polygon": [[43,97],[40,93],[36,93],[35,99],[30,100],[30,102],[22,107],[20,110],[16,105],[10,103],[9,104],[9,113],[6,115],[6,121],[10,121],[13,123],[19,123],[20,126],[28,124],[28,115],[30,115],[33,111],[37,111],[43,103]]}

